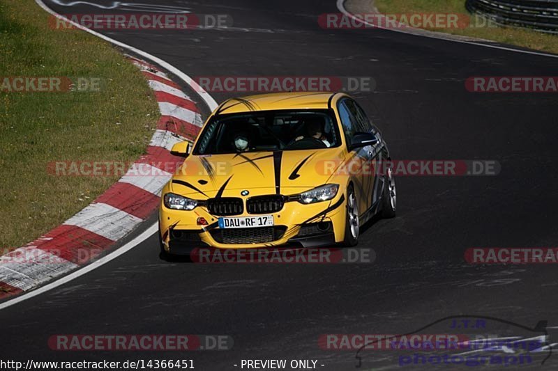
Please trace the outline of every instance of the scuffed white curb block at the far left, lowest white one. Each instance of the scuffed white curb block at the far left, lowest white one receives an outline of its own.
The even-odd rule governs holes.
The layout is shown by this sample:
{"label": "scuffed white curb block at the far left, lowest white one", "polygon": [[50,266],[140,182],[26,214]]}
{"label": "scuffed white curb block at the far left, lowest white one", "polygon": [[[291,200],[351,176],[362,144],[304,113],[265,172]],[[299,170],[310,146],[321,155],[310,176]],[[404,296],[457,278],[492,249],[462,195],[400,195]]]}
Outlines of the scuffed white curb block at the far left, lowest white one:
{"label": "scuffed white curb block at the far left, lowest white one", "polygon": [[0,258],[0,282],[27,291],[77,267],[40,248],[20,247]]}

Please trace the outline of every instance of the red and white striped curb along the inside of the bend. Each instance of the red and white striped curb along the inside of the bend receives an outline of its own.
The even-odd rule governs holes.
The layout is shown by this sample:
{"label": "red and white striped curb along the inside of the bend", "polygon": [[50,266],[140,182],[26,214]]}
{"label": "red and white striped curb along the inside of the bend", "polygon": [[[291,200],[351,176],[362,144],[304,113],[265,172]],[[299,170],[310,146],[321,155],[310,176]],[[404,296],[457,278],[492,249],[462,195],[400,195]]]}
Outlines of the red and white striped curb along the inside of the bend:
{"label": "red and white striped curb along the inside of the bend", "polygon": [[27,292],[95,260],[132,232],[158,207],[160,191],[182,159],[169,150],[193,141],[202,116],[193,100],[165,72],[141,59],[137,65],[154,90],[161,117],[146,155],[104,194],[43,237],[0,257],[0,299]]}

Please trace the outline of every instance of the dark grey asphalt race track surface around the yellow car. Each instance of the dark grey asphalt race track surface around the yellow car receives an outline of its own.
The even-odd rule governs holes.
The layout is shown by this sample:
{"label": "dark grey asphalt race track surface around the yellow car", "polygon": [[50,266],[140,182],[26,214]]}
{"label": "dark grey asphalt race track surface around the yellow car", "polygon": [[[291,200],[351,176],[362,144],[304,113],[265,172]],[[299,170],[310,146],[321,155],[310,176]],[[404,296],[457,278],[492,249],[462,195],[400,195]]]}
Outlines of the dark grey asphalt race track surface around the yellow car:
{"label": "dark grey asphalt race track surface around the yellow car", "polygon": [[[558,326],[554,265],[488,267],[464,260],[469,247],[557,246],[557,97],[465,89],[472,76],[556,75],[557,58],[379,29],[322,29],[317,17],[338,13],[334,0],[146,2],[226,13],[234,26],[104,33],[191,77],[373,77],[376,90],[354,96],[382,129],[393,157],[490,159],[502,171],[398,177],[397,218],[369,223],[361,235],[359,246],[377,254],[372,265],[165,262],[153,235],[89,274],[1,310],[3,358],[191,358],[198,370],[237,370],[242,359],[317,359],[322,370],[353,370],[355,352],[320,349],[321,334],[409,333],[453,315],[529,327],[545,320],[549,341],[558,341],[550,330]],[[58,13],[116,11],[46,3]],[[211,95],[223,102],[238,94]],[[234,348],[176,354],[47,346],[54,334],[130,333],[226,334]],[[364,369],[400,367],[389,352],[364,352],[362,361]],[[558,356],[543,367],[557,365]]]}

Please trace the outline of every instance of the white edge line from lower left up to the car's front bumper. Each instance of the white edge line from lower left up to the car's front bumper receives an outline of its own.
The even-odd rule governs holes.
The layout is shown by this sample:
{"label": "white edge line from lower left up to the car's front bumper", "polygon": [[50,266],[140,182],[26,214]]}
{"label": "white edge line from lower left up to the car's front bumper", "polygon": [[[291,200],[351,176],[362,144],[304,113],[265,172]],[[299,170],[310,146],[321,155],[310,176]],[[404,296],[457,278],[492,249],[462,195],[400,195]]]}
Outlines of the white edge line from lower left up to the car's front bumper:
{"label": "white edge line from lower left up to the car's front bumper", "polygon": [[[123,254],[127,253],[132,248],[135,248],[135,246],[144,242],[146,239],[148,239],[154,233],[156,233],[157,230],[158,230],[157,223],[153,223],[153,225],[150,226],[149,228],[147,228],[144,232],[142,232],[141,235],[135,237],[135,239],[128,242],[128,244],[125,244],[124,246],[122,246],[121,248],[113,251],[109,255],[106,255],[103,258],[100,258],[99,260],[96,260],[95,262],[92,262],[90,265],[86,265],[82,269],[77,269],[76,271],[73,271],[72,273],[68,274],[68,276],[63,276],[63,277],[59,278],[58,280],[53,281],[52,283],[49,283],[49,284],[47,284],[43,287],[39,287],[37,290],[27,292],[26,294],[22,294],[18,297],[15,297],[14,299],[11,299],[11,300],[8,300],[4,303],[1,303],[0,304],[0,310],[8,308],[10,306],[13,306],[17,303],[21,303],[24,300],[36,297],[40,294],[43,294],[44,292],[55,289],[56,287],[59,287],[61,285],[65,285],[66,283],[68,283],[70,281],[73,281],[76,278],[79,278],[79,277],[83,276],[84,274],[88,274],[90,271],[93,271],[94,269],[97,269],[98,267],[102,267],[103,265],[107,264],[107,262],[110,262],[111,260],[114,260],[114,259],[118,258],[120,255],[123,255]],[[155,251],[157,251],[157,250],[158,250],[158,248],[157,249],[153,248],[153,253],[155,253]]]}

